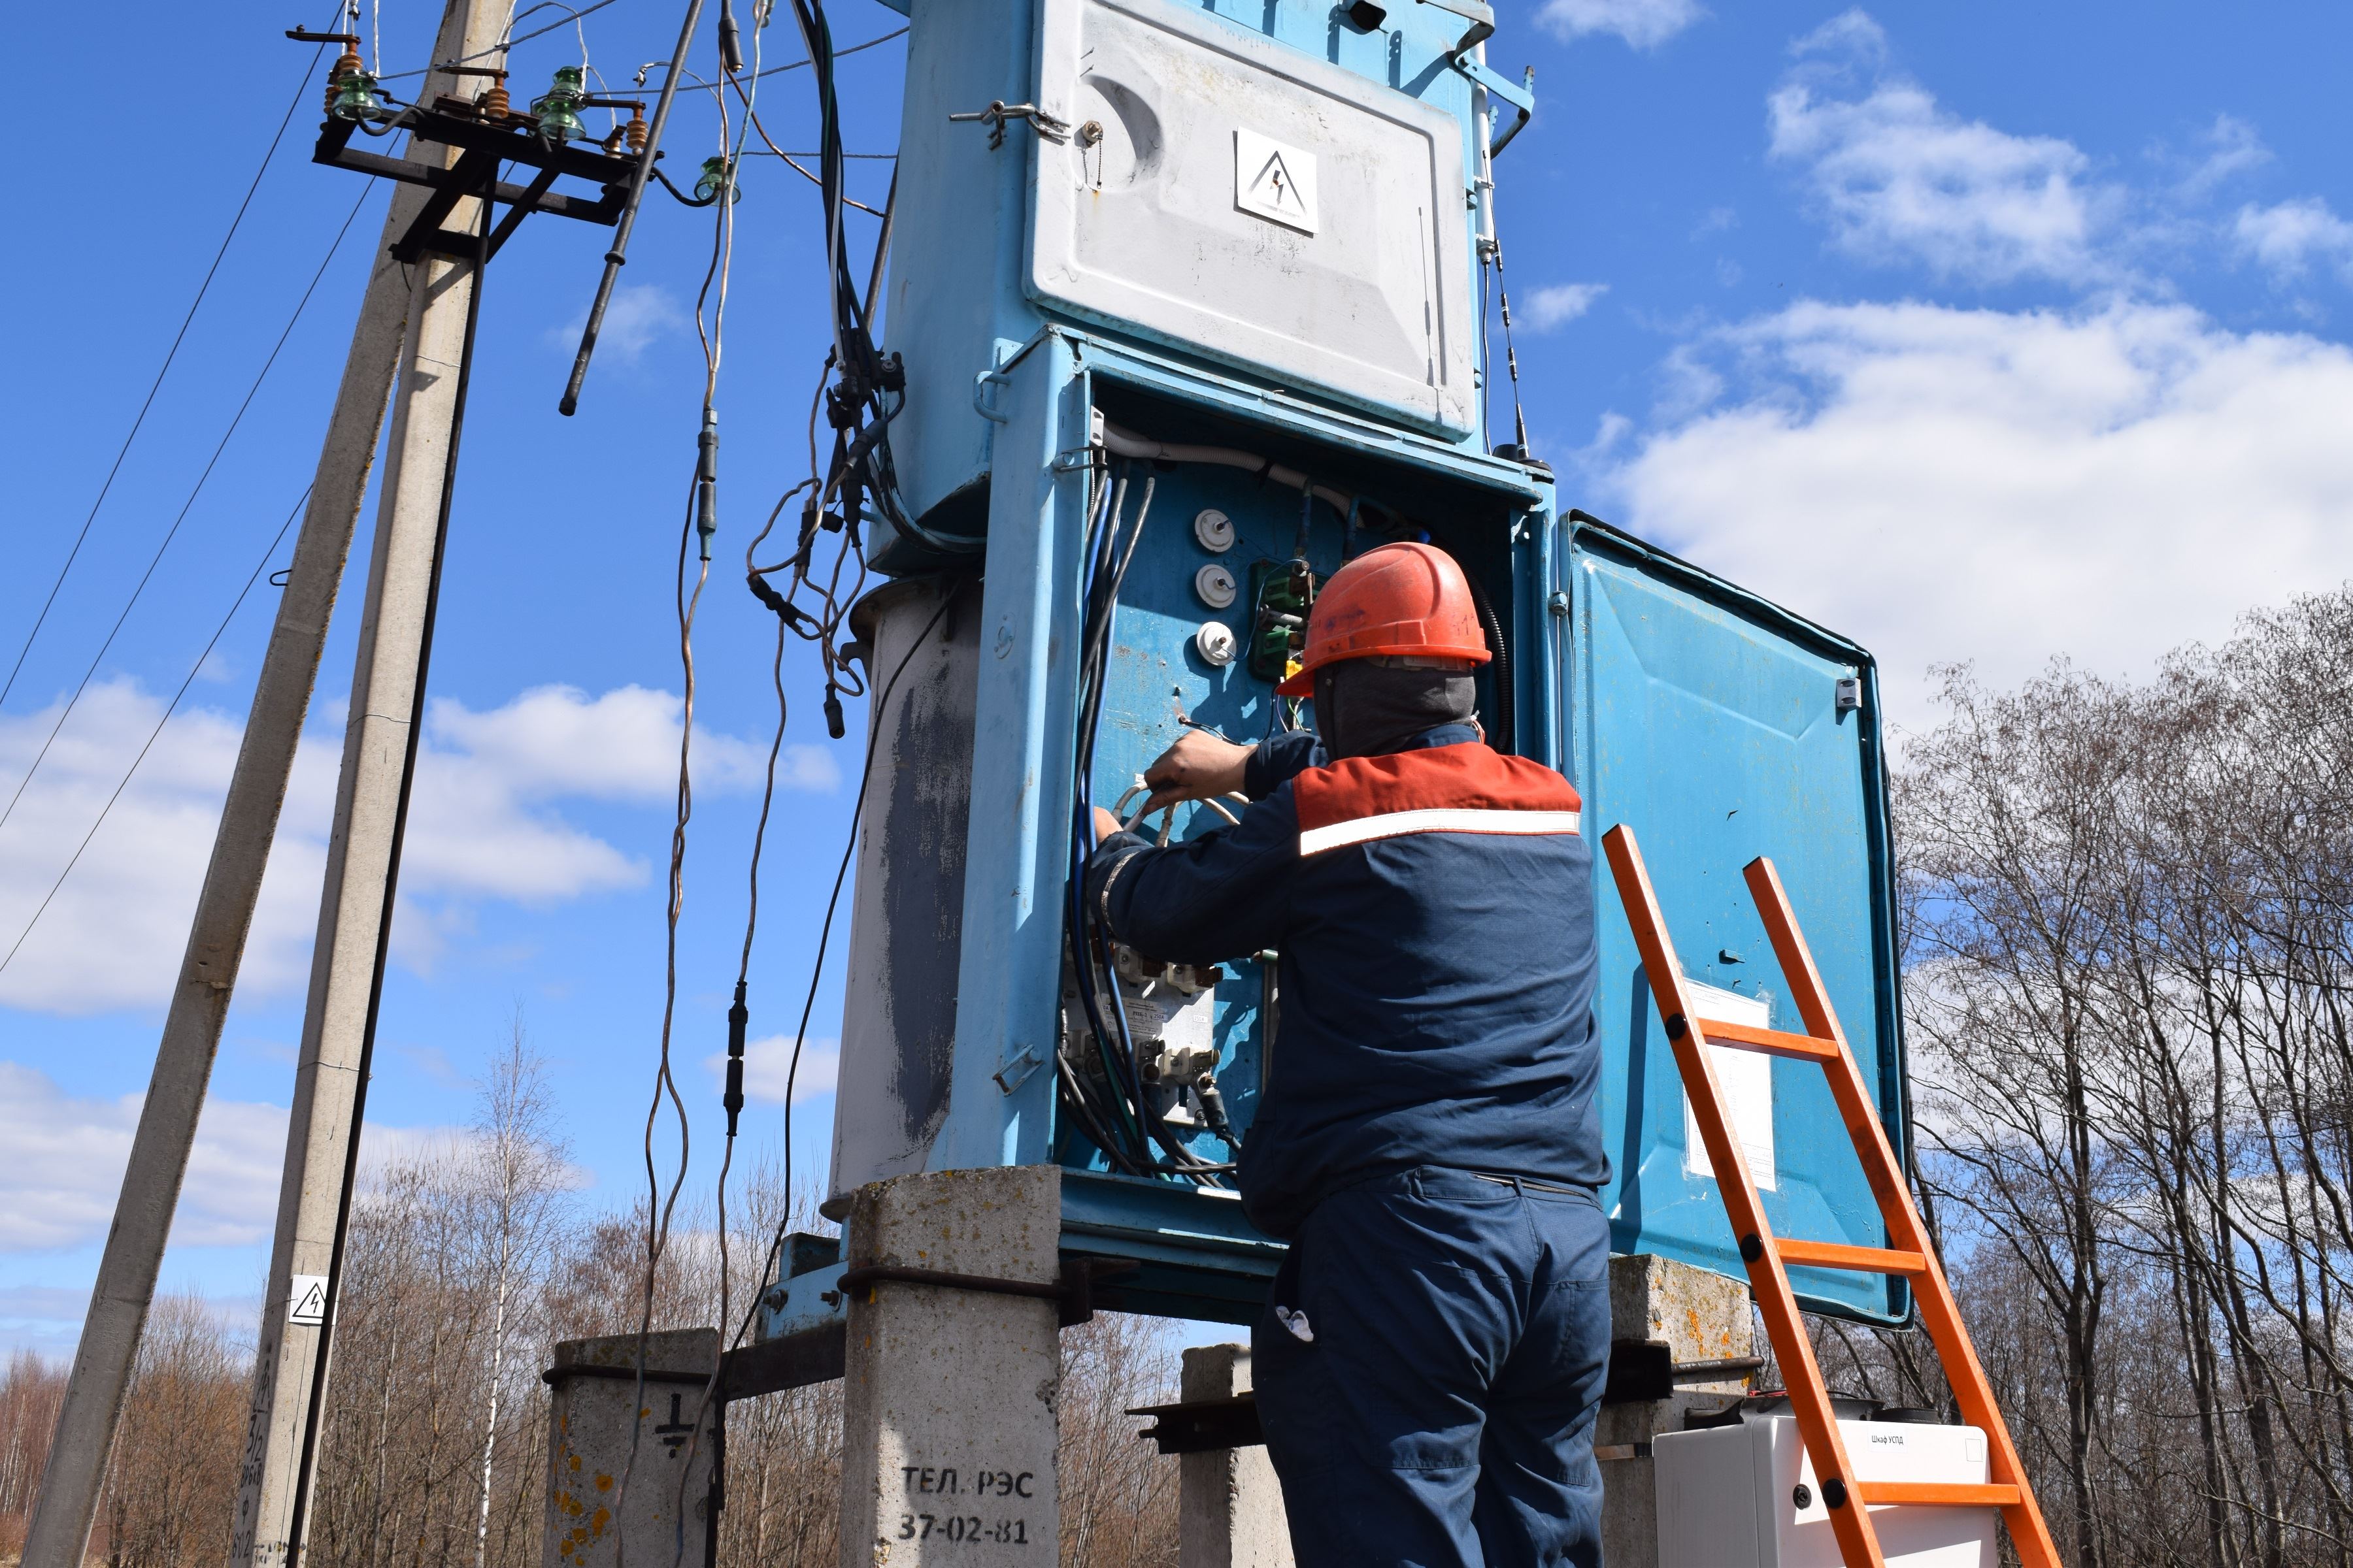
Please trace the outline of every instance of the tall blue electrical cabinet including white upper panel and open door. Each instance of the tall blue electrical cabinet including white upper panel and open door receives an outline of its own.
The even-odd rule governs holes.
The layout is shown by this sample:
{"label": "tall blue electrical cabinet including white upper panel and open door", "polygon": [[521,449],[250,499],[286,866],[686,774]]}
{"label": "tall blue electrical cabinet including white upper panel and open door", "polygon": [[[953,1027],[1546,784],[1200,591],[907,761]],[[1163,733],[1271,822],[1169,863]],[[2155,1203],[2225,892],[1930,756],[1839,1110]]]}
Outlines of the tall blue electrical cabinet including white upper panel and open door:
{"label": "tall blue electrical cabinet including white upper panel and open door", "polygon": [[[1548,468],[1489,451],[1504,388],[1487,378],[1478,277],[1492,148],[1525,122],[1527,89],[1482,63],[1485,5],[911,0],[908,14],[887,292],[908,395],[892,442],[908,510],[984,541],[984,567],[974,581],[969,559],[875,524],[875,564],[901,583],[861,639],[892,651],[922,642],[918,621],[939,632],[871,719],[889,778],[859,851],[833,1199],[908,1171],[1056,1161],[1064,1251],[1134,1265],[1111,1305],[1254,1314],[1280,1244],[1231,1190],[1111,1171],[1061,1100],[1071,825],[1082,802],[1127,795],[1186,722],[1247,741],[1311,719],[1249,670],[1254,583],[1301,543],[1327,576],[1379,541],[1369,517],[1449,550],[1489,599],[1506,654],[1480,677],[1489,738],[1562,769],[1595,844],[1631,823],[1689,980],[1786,1027],[1739,877],[1758,853],[1779,863],[1901,1150],[1871,656],[1565,512]],[[995,122],[948,118],[991,103]],[[1179,456],[1120,461],[1134,442]],[[1304,503],[1280,473],[1365,512]],[[1122,475],[1125,517],[1146,487],[1151,512],[1080,778],[1087,550]],[[1221,632],[1240,656],[1214,656]],[[871,670],[896,661],[868,654]],[[1207,809],[1167,823],[1219,827]],[[1739,1276],[1607,870],[1595,896],[1614,1246]],[[1268,1001],[1266,966],[1235,954],[1195,1013],[1245,1138]],[[1777,1229],[1885,1246],[1819,1072],[1767,1063],[1744,1093]],[[1184,1135],[1226,1157],[1207,1128]],[[793,1258],[767,1335],[840,1321],[840,1265],[814,1246]],[[1901,1286],[1795,1274],[1809,1307],[1908,1314]]]}

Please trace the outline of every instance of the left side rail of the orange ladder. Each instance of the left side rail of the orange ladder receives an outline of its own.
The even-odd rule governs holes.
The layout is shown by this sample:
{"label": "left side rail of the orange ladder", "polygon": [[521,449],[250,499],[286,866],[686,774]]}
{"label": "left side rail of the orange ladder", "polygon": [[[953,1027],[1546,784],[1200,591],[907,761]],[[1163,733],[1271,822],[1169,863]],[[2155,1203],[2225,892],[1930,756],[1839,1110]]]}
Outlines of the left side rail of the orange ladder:
{"label": "left side rail of the orange ladder", "polygon": [[[1715,1171],[1715,1187],[1725,1199],[1737,1239],[1755,1237],[1755,1246],[1741,1246],[1748,1265],[1748,1286],[1755,1291],[1758,1312],[1765,1316],[1765,1333],[1774,1356],[1781,1361],[1781,1385],[1788,1392],[1791,1413],[1798,1418],[1798,1436],[1814,1460],[1814,1479],[1831,1490],[1838,1481],[1847,1493],[1845,1507],[1831,1509],[1831,1533],[1838,1537],[1838,1554],[1847,1568],[1885,1568],[1878,1530],[1871,1526],[1871,1509],[1854,1493],[1854,1465],[1847,1460],[1845,1439],[1838,1432],[1838,1415],[1831,1408],[1831,1392],[1824,1385],[1821,1366],[1814,1361],[1814,1342],[1805,1333],[1798,1312],[1798,1295],[1791,1291],[1788,1269],[1774,1248],[1772,1225],[1765,1220],[1765,1204],[1758,1199],[1755,1180],[1748,1175],[1748,1154],[1732,1135],[1725,1117],[1722,1088],[1715,1081],[1715,1065],[1708,1060],[1704,1020],[1682,990],[1682,966],[1675,961],[1673,940],[1666,933],[1666,917],[1659,912],[1659,896],[1652,891],[1649,872],[1633,830],[1619,823],[1602,835],[1602,851],[1609,856],[1609,872],[1617,879],[1619,903],[1626,907],[1626,924],[1633,929],[1635,950],[1642,954],[1642,973],[1649,976],[1652,999],[1659,1018],[1668,1025],[1668,1044],[1675,1048],[1675,1067],[1682,1088],[1692,1100],[1701,1143]],[[1675,1027],[1682,1020],[1682,1027]],[[1755,1253],[1751,1258],[1751,1253]]]}

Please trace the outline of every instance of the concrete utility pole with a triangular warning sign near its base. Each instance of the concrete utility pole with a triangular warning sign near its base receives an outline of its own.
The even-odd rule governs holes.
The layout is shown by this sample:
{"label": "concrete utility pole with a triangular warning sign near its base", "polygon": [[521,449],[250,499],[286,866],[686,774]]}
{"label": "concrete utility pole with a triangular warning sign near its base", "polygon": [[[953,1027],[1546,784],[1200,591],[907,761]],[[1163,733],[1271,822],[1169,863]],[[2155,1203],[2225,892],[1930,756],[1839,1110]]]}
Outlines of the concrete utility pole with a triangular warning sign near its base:
{"label": "concrete utility pole with a triangular warning sign near its base", "polygon": [[[506,33],[508,9],[508,0],[449,0],[433,63],[492,52]],[[416,96],[431,103],[438,94],[461,94],[461,82],[435,71]],[[419,155],[414,143],[409,155]],[[424,155],[449,160],[452,150],[428,146]],[[449,214],[449,228],[459,233],[480,223],[480,202],[473,197]],[[407,275],[409,331],[376,498],[376,545],[367,569],[318,943],[311,950],[311,997],[294,1070],[278,1237],[261,1298],[254,1403],[231,1544],[238,1568],[280,1568],[301,1559],[327,1394],[334,1274],[351,1215],[367,1058],[384,992],[384,950],[449,527],[449,468],[464,418],[475,263],[424,256]]]}

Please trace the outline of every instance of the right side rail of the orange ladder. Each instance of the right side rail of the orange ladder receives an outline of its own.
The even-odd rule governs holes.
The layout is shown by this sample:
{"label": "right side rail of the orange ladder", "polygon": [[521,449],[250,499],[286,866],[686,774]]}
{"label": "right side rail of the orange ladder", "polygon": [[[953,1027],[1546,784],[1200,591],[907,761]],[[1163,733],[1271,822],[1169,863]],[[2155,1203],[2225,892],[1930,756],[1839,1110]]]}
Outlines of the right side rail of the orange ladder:
{"label": "right side rail of the orange ladder", "polygon": [[2042,1519],[2042,1505],[2026,1479],[2026,1465],[2019,1460],[2017,1443],[2009,1436],[2009,1422],[2002,1420],[2002,1410],[1993,1401],[1993,1385],[1977,1359],[1977,1345],[1969,1342],[1969,1331],[1960,1321],[1960,1305],[1953,1300],[1951,1281],[1946,1281],[1944,1260],[1937,1255],[1927,1227],[1920,1222],[1920,1211],[1911,1201],[1911,1187],[1904,1180],[1904,1168],[1897,1164],[1894,1145],[1887,1143],[1878,1105],[1871,1100],[1861,1067],[1854,1063],[1854,1051],[1847,1046],[1847,1037],[1838,1027],[1838,1016],[1831,1011],[1831,992],[1824,987],[1821,971],[1814,969],[1814,954],[1798,931],[1798,917],[1788,905],[1781,875],[1765,856],[1751,860],[1741,875],[1748,879],[1748,893],[1755,898],[1758,917],[1765,922],[1765,933],[1781,959],[1781,976],[1791,987],[1791,999],[1798,1004],[1798,1016],[1805,1018],[1807,1032],[1838,1041],[1838,1060],[1824,1063],[1824,1077],[1828,1077],[1838,1114],[1854,1138],[1854,1152],[1864,1164],[1864,1175],[1871,1180],[1871,1192],[1880,1201],[1880,1218],[1887,1222],[1889,1241],[1906,1253],[1920,1255],[1922,1267],[1913,1276],[1913,1300],[1944,1363],[1946,1380],[1953,1385],[1953,1399],[1960,1406],[1962,1420],[1986,1434],[1991,1481],[2017,1488],[2019,1500],[2002,1507],[2002,1519],[2009,1523],[2009,1540],[2019,1552],[2019,1561],[2026,1568],[2059,1568],[2059,1547],[2052,1540],[2049,1523]]}

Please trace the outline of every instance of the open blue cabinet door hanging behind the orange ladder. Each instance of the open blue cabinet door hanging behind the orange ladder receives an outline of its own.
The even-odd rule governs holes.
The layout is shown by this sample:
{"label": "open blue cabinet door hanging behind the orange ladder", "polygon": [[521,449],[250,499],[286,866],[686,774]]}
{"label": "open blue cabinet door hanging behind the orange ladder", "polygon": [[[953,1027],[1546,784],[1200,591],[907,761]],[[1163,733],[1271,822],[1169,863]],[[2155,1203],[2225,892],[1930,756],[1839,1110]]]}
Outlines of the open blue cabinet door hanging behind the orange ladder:
{"label": "open blue cabinet door hanging behind the orange ladder", "polygon": [[[1555,590],[1567,599],[1551,616],[1551,658],[1567,755],[1555,762],[1586,799],[1586,832],[1595,844],[1619,823],[1640,835],[1685,978],[1708,987],[1706,1013],[1800,1030],[1741,884],[1748,860],[1772,856],[1880,1121],[1908,1154],[1871,654],[1581,512],[1558,529]],[[1595,896],[1612,1251],[1744,1279],[1633,933],[1605,877]],[[1729,1051],[1718,1072],[1774,1232],[1887,1246],[1821,1072]],[[1791,1279],[1817,1312],[1871,1324],[1911,1312],[1904,1281],[1831,1269]]]}

